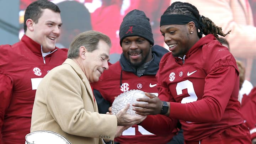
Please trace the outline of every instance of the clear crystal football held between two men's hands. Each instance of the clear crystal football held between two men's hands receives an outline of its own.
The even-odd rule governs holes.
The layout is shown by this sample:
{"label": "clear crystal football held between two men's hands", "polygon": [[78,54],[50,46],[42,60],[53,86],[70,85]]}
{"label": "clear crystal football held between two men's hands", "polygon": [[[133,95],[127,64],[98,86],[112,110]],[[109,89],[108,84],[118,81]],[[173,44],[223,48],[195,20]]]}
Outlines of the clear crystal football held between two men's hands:
{"label": "clear crystal football held between two men's hands", "polygon": [[130,107],[127,110],[127,113],[130,115],[137,115],[139,116],[139,114],[136,114],[134,110],[132,110],[133,103],[144,103],[147,104],[147,102],[140,102],[140,101],[136,101],[137,98],[149,98],[145,95],[144,91],[141,90],[129,90],[126,92],[123,92],[122,94],[118,95],[117,98],[114,100],[114,102],[112,103],[112,107],[111,107],[111,111],[112,114],[117,114],[120,110],[122,110],[122,108],[124,108],[127,103],[130,103]]}

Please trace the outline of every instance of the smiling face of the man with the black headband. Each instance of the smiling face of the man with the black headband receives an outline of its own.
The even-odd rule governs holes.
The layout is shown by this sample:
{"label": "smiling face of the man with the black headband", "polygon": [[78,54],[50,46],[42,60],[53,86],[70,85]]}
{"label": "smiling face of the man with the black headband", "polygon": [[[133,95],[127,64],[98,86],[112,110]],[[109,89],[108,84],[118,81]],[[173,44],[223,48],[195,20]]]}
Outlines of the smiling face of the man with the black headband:
{"label": "smiling face of the man with the black headband", "polygon": [[193,32],[193,29],[191,29],[189,23],[185,25],[163,25],[160,27],[160,31],[174,57],[183,57],[196,43],[193,38],[194,34],[190,33]]}

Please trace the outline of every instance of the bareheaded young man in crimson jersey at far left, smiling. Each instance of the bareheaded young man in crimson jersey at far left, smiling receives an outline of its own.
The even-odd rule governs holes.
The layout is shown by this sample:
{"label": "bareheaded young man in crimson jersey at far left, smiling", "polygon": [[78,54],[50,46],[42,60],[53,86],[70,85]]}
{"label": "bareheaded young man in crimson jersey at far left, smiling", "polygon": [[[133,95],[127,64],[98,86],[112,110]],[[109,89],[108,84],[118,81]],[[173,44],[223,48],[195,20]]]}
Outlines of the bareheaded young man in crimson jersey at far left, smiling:
{"label": "bareheaded young man in crimson jersey at far left, smiling", "polygon": [[61,25],[58,6],[46,0],[32,2],[21,41],[0,46],[0,144],[25,143],[37,86],[67,58],[68,49],[55,47]]}

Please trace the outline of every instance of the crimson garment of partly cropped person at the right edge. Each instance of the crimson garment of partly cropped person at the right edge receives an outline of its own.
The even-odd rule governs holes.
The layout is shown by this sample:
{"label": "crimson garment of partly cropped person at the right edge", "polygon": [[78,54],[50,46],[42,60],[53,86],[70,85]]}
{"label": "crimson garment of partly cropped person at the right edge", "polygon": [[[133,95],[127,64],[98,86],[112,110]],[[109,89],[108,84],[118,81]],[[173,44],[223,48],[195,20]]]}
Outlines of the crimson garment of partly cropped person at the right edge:
{"label": "crimson garment of partly cropped person at the right edge", "polygon": [[256,87],[251,90],[249,95],[244,94],[241,112],[246,126],[250,129],[251,139],[256,138]]}

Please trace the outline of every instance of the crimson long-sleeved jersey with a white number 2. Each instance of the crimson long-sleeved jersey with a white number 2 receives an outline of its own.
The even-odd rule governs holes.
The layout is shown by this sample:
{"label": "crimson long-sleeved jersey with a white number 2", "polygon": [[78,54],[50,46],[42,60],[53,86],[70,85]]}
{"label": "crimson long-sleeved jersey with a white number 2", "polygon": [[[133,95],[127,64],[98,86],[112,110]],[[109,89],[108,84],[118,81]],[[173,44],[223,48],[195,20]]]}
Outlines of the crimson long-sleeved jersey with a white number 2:
{"label": "crimson long-sleeved jersey with a white number 2", "polygon": [[[183,59],[165,54],[156,77],[159,98],[170,102],[169,117],[180,119],[186,141],[218,138],[225,128],[244,122],[236,61],[212,34],[194,44]],[[227,137],[248,135],[241,127]]]}

